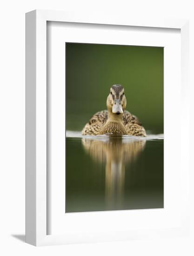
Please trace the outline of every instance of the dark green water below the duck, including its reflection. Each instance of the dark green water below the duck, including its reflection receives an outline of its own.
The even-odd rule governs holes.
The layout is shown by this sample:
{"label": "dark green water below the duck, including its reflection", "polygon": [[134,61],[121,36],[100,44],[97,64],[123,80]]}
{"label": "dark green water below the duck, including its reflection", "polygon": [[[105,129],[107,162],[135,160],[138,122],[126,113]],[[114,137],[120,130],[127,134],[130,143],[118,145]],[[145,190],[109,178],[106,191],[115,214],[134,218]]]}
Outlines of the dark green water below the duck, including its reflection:
{"label": "dark green water below the duck, including its reflection", "polygon": [[66,138],[66,212],[163,208],[163,140]]}

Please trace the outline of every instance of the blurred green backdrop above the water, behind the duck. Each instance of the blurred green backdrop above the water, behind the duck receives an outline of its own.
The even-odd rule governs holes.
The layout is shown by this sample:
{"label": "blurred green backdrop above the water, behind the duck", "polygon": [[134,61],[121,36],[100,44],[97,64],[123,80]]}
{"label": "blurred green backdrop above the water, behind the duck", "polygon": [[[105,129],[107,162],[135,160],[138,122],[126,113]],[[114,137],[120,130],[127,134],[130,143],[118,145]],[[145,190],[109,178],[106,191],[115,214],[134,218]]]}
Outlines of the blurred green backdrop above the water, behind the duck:
{"label": "blurred green backdrop above the water, behind the duck", "polygon": [[66,43],[66,129],[80,131],[106,109],[113,84],[148,133],[163,133],[163,47]]}

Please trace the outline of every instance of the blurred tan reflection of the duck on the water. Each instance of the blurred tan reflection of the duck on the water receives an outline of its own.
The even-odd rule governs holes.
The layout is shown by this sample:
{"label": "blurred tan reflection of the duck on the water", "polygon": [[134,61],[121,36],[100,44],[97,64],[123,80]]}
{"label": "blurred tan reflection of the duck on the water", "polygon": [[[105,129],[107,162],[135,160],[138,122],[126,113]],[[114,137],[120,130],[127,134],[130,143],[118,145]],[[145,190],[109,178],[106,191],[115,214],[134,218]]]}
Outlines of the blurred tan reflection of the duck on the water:
{"label": "blurred tan reflection of the duck on the water", "polygon": [[107,209],[120,209],[123,202],[125,166],[138,160],[146,146],[146,140],[122,136],[87,137],[82,138],[82,145],[95,162],[105,163]]}

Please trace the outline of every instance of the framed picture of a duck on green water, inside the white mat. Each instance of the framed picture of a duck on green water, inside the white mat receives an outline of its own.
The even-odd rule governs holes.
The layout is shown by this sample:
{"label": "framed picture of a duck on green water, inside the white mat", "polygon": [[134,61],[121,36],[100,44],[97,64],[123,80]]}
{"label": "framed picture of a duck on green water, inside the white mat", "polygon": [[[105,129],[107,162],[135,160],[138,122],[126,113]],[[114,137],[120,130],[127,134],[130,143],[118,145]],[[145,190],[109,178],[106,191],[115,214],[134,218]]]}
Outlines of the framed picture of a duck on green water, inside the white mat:
{"label": "framed picture of a duck on green water, inside the white mat", "polygon": [[164,208],[164,48],[64,47],[66,213]]}

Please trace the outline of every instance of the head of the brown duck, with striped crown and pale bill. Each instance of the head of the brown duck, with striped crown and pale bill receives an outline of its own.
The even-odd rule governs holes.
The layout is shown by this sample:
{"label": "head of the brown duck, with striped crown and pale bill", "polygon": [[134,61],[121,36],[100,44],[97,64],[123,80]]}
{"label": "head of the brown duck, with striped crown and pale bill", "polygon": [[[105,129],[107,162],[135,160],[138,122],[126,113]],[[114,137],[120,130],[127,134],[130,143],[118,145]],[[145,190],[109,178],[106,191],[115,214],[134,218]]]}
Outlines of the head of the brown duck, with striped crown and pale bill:
{"label": "head of the brown duck, with striped crown and pale bill", "polygon": [[110,93],[107,97],[107,110],[109,114],[122,115],[125,111],[127,100],[124,93],[124,88],[120,84],[114,84],[110,88]]}

